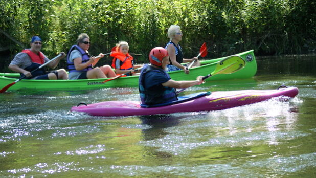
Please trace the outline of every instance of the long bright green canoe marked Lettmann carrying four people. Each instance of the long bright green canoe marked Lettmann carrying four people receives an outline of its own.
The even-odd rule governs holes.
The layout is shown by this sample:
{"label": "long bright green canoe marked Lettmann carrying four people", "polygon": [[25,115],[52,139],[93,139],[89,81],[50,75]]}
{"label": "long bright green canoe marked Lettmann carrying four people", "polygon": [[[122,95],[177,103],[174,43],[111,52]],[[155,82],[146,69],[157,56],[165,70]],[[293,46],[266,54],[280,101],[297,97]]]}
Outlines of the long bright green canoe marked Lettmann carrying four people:
{"label": "long bright green canoe marked Lettmann carrying four people", "polygon": [[[246,66],[232,74],[218,74],[207,80],[230,80],[230,79],[244,79],[251,78],[257,72],[257,63],[254,55],[254,50],[236,54],[246,61]],[[226,57],[217,59],[210,59],[200,61],[201,66],[191,68],[190,74],[185,74],[181,71],[169,72],[173,80],[194,80],[197,76],[206,76],[214,71],[216,64]],[[0,73],[0,89],[6,85],[14,82],[20,75],[18,73]],[[12,85],[8,91],[12,90],[63,90],[63,91],[77,91],[77,90],[96,90],[100,88],[109,87],[138,87],[138,76],[120,77],[116,80],[111,80],[102,83],[107,78],[103,79],[82,79],[82,80],[21,80]]]}

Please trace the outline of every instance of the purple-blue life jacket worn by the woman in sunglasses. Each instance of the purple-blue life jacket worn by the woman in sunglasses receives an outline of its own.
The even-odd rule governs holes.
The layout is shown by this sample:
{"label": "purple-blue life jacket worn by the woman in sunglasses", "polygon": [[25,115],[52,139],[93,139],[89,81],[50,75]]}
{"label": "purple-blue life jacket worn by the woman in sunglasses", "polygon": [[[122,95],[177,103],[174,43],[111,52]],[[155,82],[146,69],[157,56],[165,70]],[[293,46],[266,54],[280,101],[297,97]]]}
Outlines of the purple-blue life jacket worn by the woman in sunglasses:
{"label": "purple-blue life jacket worn by the woman in sunglasses", "polygon": [[69,52],[68,52],[68,54],[67,54],[67,64],[68,64],[69,72],[85,72],[85,71],[88,71],[88,70],[93,69],[93,68],[92,68],[92,65],[89,65],[89,66],[87,66],[85,69],[82,69],[82,70],[80,70],[80,71],[77,71],[77,70],[76,70],[75,65],[74,65],[74,62],[73,62],[73,61],[71,62],[71,61],[69,60],[71,52],[72,52],[73,50],[75,50],[75,49],[77,49],[77,50],[81,53],[81,55],[82,55],[82,57],[81,57],[82,62],[81,62],[81,63],[86,63],[87,61],[90,60],[90,55],[89,55],[89,53],[85,52],[85,51],[84,51],[83,49],[81,49],[78,45],[73,45],[73,46],[70,48],[70,50],[69,50]]}

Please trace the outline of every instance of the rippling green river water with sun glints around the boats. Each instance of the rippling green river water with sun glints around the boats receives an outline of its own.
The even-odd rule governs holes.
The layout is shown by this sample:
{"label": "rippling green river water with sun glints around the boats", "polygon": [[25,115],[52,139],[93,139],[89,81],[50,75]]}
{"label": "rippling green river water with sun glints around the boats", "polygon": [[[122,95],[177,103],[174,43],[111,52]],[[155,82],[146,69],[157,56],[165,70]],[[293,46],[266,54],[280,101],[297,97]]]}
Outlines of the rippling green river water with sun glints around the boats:
{"label": "rippling green river water with sun glints around the boats", "polygon": [[206,82],[200,91],[299,88],[214,112],[92,117],[79,102],[139,100],[137,88],[0,95],[1,177],[313,177],[316,56],[262,57],[252,79]]}

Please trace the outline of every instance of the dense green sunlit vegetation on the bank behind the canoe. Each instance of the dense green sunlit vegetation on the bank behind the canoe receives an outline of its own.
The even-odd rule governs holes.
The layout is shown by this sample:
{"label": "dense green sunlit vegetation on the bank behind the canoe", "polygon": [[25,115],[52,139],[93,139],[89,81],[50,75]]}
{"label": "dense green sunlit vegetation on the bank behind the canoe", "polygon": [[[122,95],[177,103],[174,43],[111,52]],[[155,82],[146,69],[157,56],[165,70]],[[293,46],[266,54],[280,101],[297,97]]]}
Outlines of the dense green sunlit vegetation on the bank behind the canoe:
{"label": "dense green sunlit vegetation on the bank behind the canoe", "polygon": [[143,54],[137,62],[145,62],[150,49],[165,46],[172,24],[182,27],[186,57],[196,56],[202,42],[208,58],[251,49],[256,55],[304,54],[316,48],[315,7],[309,0],[2,0],[0,51],[10,54],[0,70],[32,36],[40,36],[42,51],[54,57],[80,33],[91,37],[92,55],[126,40],[130,52]]}

